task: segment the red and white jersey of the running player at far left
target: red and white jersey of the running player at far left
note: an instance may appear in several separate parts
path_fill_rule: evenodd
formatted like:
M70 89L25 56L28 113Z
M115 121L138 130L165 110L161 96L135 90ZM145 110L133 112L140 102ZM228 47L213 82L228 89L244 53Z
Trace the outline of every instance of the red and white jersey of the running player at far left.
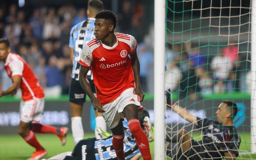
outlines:
M32 69L18 54L10 52L4 63L5 71L10 78L21 77L20 89L22 100L28 101L34 98L44 98L44 91Z

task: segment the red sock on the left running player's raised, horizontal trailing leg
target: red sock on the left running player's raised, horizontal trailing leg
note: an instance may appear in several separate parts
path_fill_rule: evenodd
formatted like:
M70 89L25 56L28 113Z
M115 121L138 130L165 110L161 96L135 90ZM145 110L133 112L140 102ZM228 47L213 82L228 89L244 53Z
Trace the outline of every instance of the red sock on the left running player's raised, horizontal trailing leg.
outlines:
M32 131L35 133L53 133L56 135L60 134L60 129L40 123L32 123Z

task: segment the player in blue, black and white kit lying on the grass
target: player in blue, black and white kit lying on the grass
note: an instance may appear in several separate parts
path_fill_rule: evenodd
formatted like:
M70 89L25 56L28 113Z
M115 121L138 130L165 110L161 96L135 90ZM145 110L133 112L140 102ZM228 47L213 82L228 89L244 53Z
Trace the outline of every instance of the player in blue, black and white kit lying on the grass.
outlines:
M148 136L148 140L152 141L154 138L154 128L149 121L149 114L146 109L139 111L138 118L140 121L140 126ZM141 157L139 148L136 145L135 139L129 130L127 120L123 121L124 124L124 156L125 159L137 160ZM112 145L113 136L107 132L99 132L103 138L102 140L97 140L96 138L88 138L86 140L81 140L75 146L72 156L66 156L70 153L61 153L60 155L54 156L50 159L89 159L89 160L102 160L102 159L116 159L116 153ZM66 156L66 157L65 157Z

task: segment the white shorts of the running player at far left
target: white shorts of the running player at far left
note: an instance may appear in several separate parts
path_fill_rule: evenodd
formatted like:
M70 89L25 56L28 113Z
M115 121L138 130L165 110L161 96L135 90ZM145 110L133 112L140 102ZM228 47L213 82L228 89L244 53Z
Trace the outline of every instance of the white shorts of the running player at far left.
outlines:
M20 102L20 120L25 123L39 122L44 111L44 98Z

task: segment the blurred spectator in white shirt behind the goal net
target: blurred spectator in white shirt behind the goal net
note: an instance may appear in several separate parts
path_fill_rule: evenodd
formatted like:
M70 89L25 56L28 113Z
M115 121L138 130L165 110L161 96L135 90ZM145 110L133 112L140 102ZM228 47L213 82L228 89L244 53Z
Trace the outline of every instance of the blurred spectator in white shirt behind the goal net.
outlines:
M224 92L227 88L226 82L229 78L230 71L232 70L232 62L222 53L212 58L211 69L214 77L214 92Z

